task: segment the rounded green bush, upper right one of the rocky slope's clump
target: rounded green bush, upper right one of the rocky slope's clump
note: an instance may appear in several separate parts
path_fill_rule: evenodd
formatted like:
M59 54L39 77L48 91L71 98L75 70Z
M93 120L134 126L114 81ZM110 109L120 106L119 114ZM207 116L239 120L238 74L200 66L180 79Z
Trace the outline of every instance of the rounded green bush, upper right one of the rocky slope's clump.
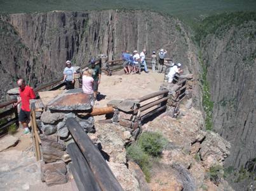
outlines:
M138 145L149 155L161 156L163 148L168 141L160 133L145 132L138 138Z

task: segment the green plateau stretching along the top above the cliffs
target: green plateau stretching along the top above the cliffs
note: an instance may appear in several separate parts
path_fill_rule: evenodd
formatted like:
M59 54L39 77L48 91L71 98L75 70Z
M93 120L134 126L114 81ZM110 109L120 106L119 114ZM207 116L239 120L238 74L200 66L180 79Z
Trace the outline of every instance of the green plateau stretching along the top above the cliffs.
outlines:
M254 0L0 0L0 13L32 13L53 10L84 11L100 9L144 9L178 16L190 25L201 18L232 11L255 11Z

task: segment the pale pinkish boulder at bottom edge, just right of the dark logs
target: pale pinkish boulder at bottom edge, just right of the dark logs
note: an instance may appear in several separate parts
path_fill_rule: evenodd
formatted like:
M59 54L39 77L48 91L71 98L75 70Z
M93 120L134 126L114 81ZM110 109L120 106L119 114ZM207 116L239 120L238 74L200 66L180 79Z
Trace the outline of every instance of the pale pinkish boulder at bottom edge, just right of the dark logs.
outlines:
M111 162L107 162L107 164L109 164L111 171L114 173L114 176L116 176L116 179L125 191L140 190L140 185L138 184L137 179L135 178L135 176L133 176L133 174L131 173L131 171L129 171L125 164Z

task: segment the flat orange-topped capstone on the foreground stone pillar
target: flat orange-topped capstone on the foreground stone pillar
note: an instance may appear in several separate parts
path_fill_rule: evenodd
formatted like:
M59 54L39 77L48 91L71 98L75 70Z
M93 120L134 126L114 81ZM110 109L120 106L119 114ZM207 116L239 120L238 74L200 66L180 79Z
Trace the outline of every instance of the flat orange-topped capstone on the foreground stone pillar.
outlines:
M90 97L82 92L60 94L48 103L53 111L88 111L91 109Z

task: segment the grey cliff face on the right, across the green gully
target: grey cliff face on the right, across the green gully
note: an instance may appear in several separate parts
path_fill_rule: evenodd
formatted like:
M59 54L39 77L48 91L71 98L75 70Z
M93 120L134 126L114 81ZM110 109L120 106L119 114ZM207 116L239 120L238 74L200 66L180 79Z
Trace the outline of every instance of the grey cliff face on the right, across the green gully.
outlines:
M214 102L213 128L231 142L225 163L234 168L256 156L256 22L246 19L250 16L231 15L201 40Z

